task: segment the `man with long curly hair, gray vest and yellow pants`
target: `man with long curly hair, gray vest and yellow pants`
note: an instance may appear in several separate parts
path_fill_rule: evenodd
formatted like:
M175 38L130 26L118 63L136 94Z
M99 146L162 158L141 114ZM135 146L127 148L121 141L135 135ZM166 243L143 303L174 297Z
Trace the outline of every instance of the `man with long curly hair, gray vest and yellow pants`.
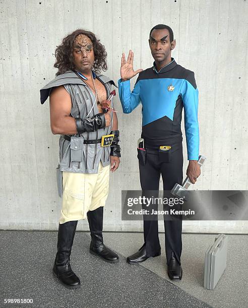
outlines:
M70 266L78 220L88 218L90 253L110 263L118 262L102 238L109 169L114 172L120 162L117 117L112 100L107 100L115 84L100 74L107 69L106 56L92 32L74 31L55 50L56 78L40 90L41 104L50 98L51 131L60 134L63 202L53 275L68 288L80 286Z

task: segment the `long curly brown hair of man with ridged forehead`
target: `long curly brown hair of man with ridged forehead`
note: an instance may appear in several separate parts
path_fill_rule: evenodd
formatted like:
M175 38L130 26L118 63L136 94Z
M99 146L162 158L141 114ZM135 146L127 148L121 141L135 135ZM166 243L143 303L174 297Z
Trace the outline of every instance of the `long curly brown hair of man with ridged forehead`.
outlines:
M75 65L73 63L73 42L79 34L88 36L93 43L95 56L93 68L95 72L99 73L101 70L107 70L107 53L105 47L100 43L100 40L96 38L94 33L83 29L78 29L66 36L62 43L55 49L56 62L53 66L58 68L58 71L55 74L56 76L65 73L67 70L75 69Z

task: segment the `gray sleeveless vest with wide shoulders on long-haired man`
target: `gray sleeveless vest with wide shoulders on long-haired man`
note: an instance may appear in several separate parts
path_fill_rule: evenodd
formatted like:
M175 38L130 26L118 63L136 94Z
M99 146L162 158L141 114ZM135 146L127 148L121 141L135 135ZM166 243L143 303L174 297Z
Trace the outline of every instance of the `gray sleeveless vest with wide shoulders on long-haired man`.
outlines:
M105 86L107 98L112 91L114 82L107 76L96 74L96 78ZM85 118L95 101L95 96L91 89L73 71L67 71L58 75L40 90L40 101L43 104L48 98L53 87L64 86L72 98L71 116L74 118ZM111 102L113 108L113 100ZM89 116L99 113L97 104L90 112ZM111 125L95 132L84 132L81 135L71 137L71 142L63 136L59 138L59 160L60 170L74 173L97 173L100 161L103 167L110 164L110 146L101 147L100 143L85 144L84 139L100 139L103 135L108 135L112 129Z

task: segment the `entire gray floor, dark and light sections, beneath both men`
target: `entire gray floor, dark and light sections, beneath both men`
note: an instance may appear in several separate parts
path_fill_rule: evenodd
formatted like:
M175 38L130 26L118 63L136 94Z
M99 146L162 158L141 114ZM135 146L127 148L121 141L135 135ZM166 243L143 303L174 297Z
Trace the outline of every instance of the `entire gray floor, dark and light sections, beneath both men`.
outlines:
M183 235L183 279L171 283L163 252L142 266L126 263L143 244L142 234L104 233L105 244L120 255L118 264L109 264L89 254L89 234L77 232L71 256L82 283L77 290L61 286L51 274L56 237L56 232L0 231L0 307L247 306L246 236L229 236L228 267L214 291L202 286L204 251L214 235ZM32 298L33 304L4 304L4 298Z

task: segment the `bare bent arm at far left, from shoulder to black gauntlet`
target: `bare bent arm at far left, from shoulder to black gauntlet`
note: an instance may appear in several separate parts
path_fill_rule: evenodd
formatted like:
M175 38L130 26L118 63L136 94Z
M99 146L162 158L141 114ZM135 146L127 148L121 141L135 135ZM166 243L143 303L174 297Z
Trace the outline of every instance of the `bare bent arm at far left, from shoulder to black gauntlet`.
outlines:
M74 135L77 133L75 118L70 116L72 99L63 86L50 93L50 126L52 133Z

